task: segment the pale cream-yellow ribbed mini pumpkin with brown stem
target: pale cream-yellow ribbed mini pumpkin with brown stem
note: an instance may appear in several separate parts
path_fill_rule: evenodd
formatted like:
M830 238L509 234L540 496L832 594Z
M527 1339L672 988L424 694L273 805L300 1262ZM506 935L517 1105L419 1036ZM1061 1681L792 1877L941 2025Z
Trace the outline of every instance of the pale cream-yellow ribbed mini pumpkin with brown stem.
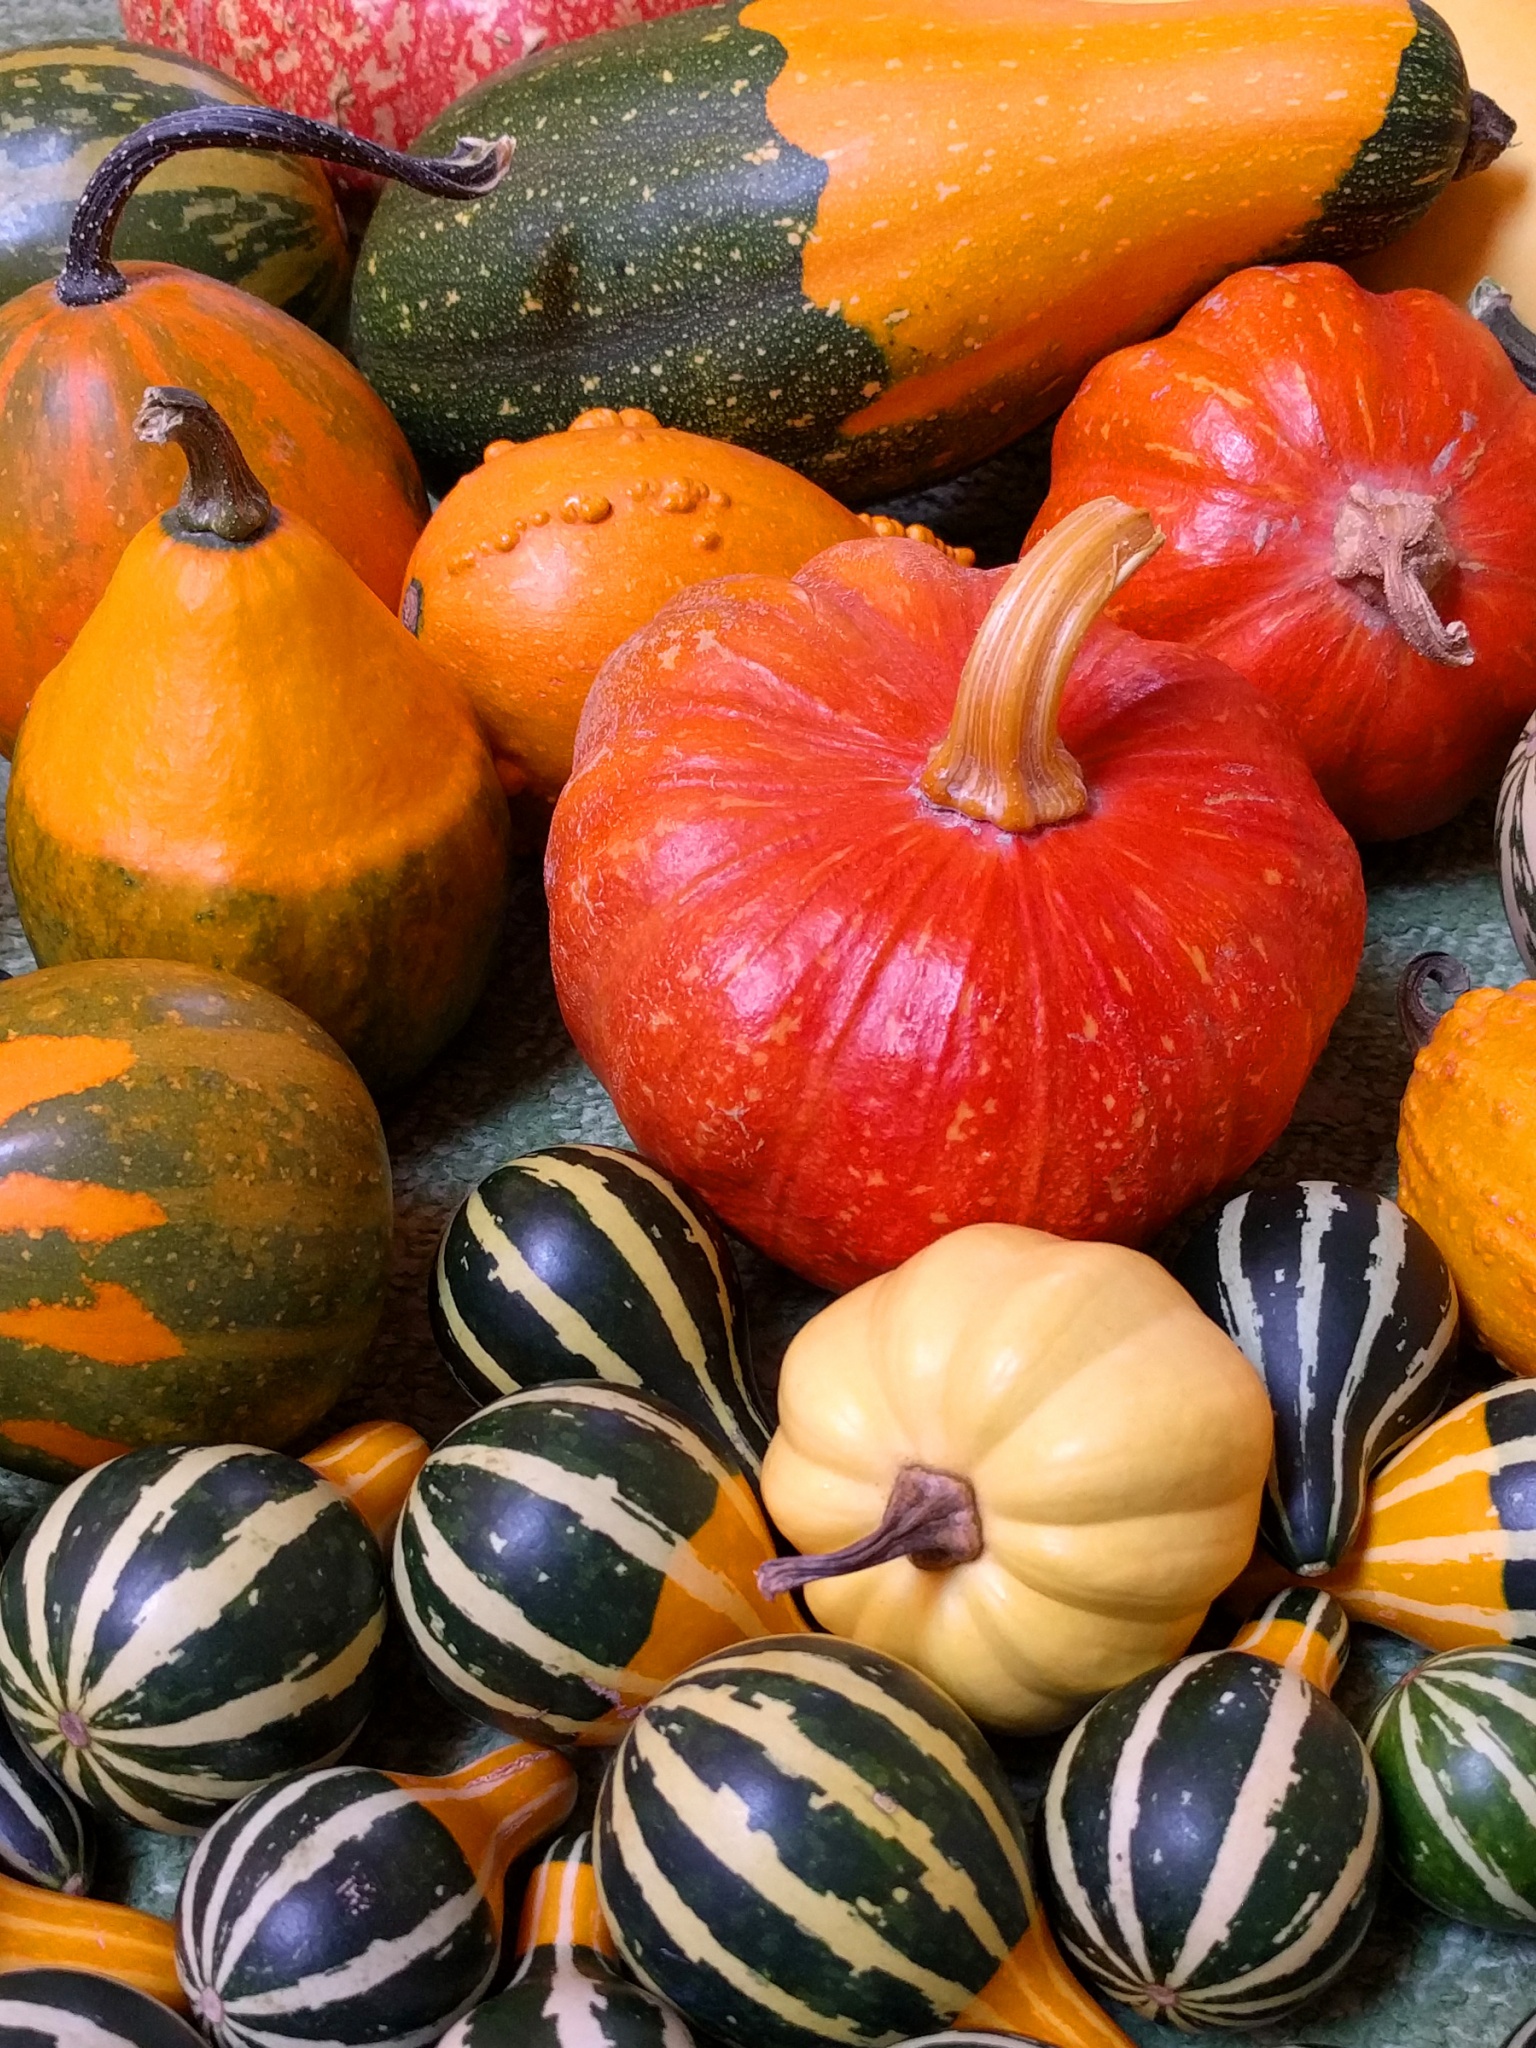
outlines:
M979 1223L795 1337L762 1468L834 1634L991 1729L1059 1729L1180 1657L1257 1532L1260 1376L1153 1260Z

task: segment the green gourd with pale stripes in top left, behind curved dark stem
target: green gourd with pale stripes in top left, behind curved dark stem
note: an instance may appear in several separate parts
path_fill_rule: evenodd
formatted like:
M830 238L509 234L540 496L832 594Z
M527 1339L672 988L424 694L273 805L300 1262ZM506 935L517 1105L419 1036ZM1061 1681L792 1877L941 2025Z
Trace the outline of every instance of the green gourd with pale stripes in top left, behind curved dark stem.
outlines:
M57 276L76 201L113 143L158 115L254 104L211 66L137 43L0 51L0 299ZM311 328L330 328L346 299L346 236L307 158L176 156L129 199L113 248L240 285Z

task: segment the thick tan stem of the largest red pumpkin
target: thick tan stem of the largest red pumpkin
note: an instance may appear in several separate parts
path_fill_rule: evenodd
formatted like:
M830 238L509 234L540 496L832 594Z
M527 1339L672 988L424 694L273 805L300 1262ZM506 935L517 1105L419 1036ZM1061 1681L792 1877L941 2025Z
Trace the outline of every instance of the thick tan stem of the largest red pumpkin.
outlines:
M1057 733L1061 692L1087 629L1161 545L1149 514L1118 498L1094 498L1036 541L971 645L950 729L922 772L930 803L1001 831L1061 825L1087 809Z

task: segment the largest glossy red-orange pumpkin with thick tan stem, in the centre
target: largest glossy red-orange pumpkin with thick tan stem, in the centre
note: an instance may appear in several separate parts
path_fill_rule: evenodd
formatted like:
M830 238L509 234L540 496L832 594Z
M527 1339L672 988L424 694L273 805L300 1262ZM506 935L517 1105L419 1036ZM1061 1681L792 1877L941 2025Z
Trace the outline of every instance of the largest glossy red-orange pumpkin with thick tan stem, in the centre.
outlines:
M987 1219L1135 1241L1290 1116L1360 862L1221 664L1100 627L1073 666L1155 545L1114 502L1014 571L850 541L674 598L598 676L561 1008L639 1149L786 1266L850 1286Z

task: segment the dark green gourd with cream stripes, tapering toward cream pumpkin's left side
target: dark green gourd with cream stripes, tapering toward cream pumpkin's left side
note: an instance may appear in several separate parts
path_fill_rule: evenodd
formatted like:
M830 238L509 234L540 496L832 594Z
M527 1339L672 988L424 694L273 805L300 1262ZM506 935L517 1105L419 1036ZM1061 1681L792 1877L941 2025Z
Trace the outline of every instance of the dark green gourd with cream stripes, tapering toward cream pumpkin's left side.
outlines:
M672 1401L750 1473L762 1464L731 1247L635 1153L557 1145L498 1165L449 1219L428 1307L473 1401L608 1380Z

